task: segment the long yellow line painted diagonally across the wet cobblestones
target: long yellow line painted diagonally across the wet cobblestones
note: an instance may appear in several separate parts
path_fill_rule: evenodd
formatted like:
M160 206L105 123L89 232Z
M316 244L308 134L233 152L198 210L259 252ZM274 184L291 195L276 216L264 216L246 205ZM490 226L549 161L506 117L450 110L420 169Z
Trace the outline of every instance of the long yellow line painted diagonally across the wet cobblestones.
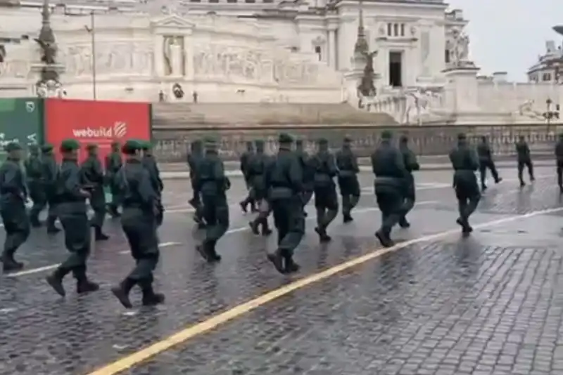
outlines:
M533 216L544 215L546 213L553 213L563 211L563 207L557 209L546 209L541 211L533 211L531 213L526 213L524 215L517 215L517 216L510 216L509 218L501 218L494 221L488 221L486 223L481 223L478 225L474 225L473 227L478 228L486 228L493 225L499 225L504 223L510 223L512 221L517 221L524 218L531 218ZM141 362L148 360L149 358L163 353L165 350L168 350L174 346L177 346L180 343L184 343L191 338L196 336L200 336L207 331L215 329L216 327L220 326L221 324L225 324L230 320L234 320L236 317L240 317L243 314L246 314L255 308L258 308L270 301L274 301L281 296L291 293L292 291L296 291L303 287L307 287L310 284L315 282L320 282L323 279L327 279L333 275L336 275L339 272L344 270L348 270L349 268L353 268L357 265L362 263L366 263L367 261L371 261L372 259L379 258L380 256L390 253L391 251L396 251L398 249L403 249L406 246L410 246L412 244L416 244L418 242L428 242L434 241L436 239L441 239L443 237L447 237L449 235L459 234L460 229L456 228L454 230L446 230L445 232L438 232L434 235L426 235L422 237L418 237L415 239L410 239L405 242L401 242L400 244L396 244L393 247L389 247L387 249L377 249L368 254L359 256L358 258L354 258L350 261L346 261L339 265L335 265L334 267L328 268L322 272L315 273L314 275L310 275L308 277L303 277L302 279L298 279L290 284L286 284L283 287L279 287L278 289L274 289L273 291L267 292L266 294L262 294L262 296L258 296L258 298L254 298L251 301L246 303L242 303L241 305L237 305L234 308L230 308L224 313L220 313L210 319L205 320L201 323L194 324L191 327L186 329L182 329L182 331L178 331L176 334L172 334L167 338L164 338L162 341L158 341L157 343L153 343L151 346L148 346L144 349L137 351L136 353L132 353L125 357L122 357L119 360L116 360L113 363L107 364L100 369L97 369L94 372L91 372L87 375L115 375L119 374L126 369L129 369Z

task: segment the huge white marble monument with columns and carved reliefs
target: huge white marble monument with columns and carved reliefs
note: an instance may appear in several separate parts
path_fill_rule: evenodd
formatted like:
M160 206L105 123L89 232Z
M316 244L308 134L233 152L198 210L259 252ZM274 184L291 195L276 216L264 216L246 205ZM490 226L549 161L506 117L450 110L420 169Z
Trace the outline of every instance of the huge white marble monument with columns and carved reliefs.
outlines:
M41 67L33 39L42 3L9 1L0 8L0 96L30 96ZM361 99L364 110L419 124L542 121L546 98L559 103L560 86L511 84L502 74L477 77L464 33L468 21L443 0L74 0L49 6L61 84L70 98L354 106ZM365 51L355 53L358 45ZM375 88L369 97L358 90L367 53L373 53ZM175 86L182 98L175 97Z

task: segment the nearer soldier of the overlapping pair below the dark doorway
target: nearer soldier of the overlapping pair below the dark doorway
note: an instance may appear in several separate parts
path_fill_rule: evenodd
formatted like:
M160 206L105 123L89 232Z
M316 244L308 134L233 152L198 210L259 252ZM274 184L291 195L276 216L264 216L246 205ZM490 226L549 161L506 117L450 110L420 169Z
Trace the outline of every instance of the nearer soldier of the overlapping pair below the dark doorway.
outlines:
M381 133L381 144L372 154L374 190L381 211L381 228L375 232L375 236L386 247L394 245L391 229L403 217L405 183L408 176L403 155L391 144L391 138L390 131Z

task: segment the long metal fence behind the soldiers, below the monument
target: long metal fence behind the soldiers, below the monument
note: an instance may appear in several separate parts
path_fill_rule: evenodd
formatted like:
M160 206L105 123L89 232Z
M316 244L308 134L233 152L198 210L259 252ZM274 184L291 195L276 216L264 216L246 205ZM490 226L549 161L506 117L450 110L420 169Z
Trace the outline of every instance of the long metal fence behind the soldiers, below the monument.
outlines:
M367 157L379 143L381 132L392 131L396 138L407 135L410 147L418 155L448 154L457 140L457 134L466 133L476 143L487 136L495 154L514 154L514 143L520 136L528 141L532 153L552 154L557 140L556 129L544 124L528 125L433 125L433 126L248 126L248 127L157 127L153 129L156 142L154 152L160 162L185 162L191 141L211 136L217 140L224 160L238 160L246 150L246 142L264 140L267 152L276 152L277 136L290 133L303 140L305 149L315 150L318 138L327 138L331 148L341 146L344 136L353 138L354 150L359 157Z

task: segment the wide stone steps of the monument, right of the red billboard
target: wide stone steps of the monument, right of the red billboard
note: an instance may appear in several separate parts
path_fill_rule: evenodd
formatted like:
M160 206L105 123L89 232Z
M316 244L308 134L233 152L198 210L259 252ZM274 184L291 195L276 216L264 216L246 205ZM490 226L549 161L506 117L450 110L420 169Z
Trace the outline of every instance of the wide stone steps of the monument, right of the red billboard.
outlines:
M293 126L293 125L393 126L388 114L357 110L348 103L155 103L153 126Z

